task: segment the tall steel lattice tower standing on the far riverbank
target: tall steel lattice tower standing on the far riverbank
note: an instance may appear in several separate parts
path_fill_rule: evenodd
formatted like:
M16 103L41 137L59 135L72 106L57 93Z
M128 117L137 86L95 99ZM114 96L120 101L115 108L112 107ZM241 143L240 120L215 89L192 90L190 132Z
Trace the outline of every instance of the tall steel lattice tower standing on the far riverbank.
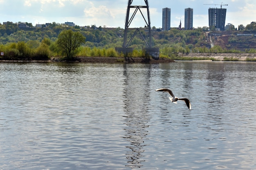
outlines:
M130 42L133 40L135 35L139 33L141 37L143 38L144 42L146 43L146 46L148 48L151 48L152 46L152 41L151 41L151 27L150 27L150 16L149 16L149 7L148 7L148 0L144 0L145 5L132 5L132 2L134 0L128 0L128 7L127 7L127 13L126 13L126 22L125 22L125 29L124 29L124 43L123 43L123 48L127 48L130 45ZM132 15L130 16L130 9L135 9ZM145 18L143 15L143 12L141 9L147 9L147 17ZM132 23L132 20L134 19L135 15L138 13L142 15L146 25L144 28L130 28L130 24ZM127 33L129 30L135 30L133 33L132 37L130 40L127 40ZM149 42L146 42L145 38L143 37L141 30L148 31L148 37L149 37ZM127 42L128 41L128 42Z

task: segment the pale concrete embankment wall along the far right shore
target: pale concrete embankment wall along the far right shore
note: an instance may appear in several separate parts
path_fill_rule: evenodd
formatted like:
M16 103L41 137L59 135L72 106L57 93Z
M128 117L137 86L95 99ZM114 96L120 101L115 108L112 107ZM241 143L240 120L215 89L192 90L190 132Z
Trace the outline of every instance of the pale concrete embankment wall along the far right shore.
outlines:
M256 59L255 53L179 53L180 57L209 57L222 61L224 58L234 58L239 61L246 61L249 59Z

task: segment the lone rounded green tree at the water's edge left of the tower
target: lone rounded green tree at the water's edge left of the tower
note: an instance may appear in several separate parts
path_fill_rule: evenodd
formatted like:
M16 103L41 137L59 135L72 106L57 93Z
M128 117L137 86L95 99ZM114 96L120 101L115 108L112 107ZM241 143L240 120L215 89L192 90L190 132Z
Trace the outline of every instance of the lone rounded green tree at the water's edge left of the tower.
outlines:
M57 45L67 55L68 59L72 59L76 49L84 42L85 37L80 32L68 29L61 31L58 35Z

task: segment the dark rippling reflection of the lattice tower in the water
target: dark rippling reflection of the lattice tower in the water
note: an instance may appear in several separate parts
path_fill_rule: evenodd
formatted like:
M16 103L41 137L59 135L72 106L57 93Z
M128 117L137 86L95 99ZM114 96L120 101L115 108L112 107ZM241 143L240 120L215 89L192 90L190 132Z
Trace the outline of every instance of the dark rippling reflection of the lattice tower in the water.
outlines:
M130 151L126 153L128 159L128 165L126 166L139 168L142 166L141 162L144 161L141 158L143 157L144 142L148 134L147 123L150 119L147 108L149 91L145 90L149 89L150 69L145 77L145 72L129 71L130 66L136 66L136 64L124 64L124 112L126 113L125 124L127 125L124 139L130 142L130 145L126 146L130 148ZM141 82L146 82L146 84L141 84L141 79L143 79Z

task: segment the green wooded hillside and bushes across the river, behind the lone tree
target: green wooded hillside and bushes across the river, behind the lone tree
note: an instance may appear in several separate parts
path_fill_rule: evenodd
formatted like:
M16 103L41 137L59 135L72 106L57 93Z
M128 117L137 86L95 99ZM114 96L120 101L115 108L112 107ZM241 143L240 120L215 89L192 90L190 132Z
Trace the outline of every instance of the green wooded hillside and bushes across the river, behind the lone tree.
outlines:
M92 26L67 26L49 23L42 28L33 28L31 23L27 28L19 28L18 24L6 22L0 24L0 51L4 52L2 59L14 60L24 58L35 60L62 56L57 45L58 36L64 30L79 32L85 37L85 42L77 49L76 56L108 56L117 57L115 47L123 44L124 29ZM160 57L171 57L175 53L256 53L256 23L247 26L240 25L238 30L231 27L228 31L209 31L208 27L194 30L172 28L170 31L159 31L153 27L153 45L159 47ZM129 36L132 32L129 32ZM147 40L148 33L142 31ZM141 49L145 42L140 35L130 43L134 48L134 57L143 55Z

